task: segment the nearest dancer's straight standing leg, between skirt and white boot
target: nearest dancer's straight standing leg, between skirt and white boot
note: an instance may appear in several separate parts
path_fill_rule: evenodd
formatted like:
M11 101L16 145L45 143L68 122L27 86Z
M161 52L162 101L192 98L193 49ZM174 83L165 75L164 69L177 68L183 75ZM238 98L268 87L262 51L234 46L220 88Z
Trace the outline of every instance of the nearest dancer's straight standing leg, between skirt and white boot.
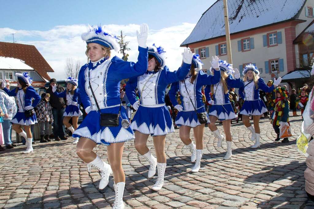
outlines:
M122 169L122 153L124 142L111 143L107 147L108 160L113 173L115 184L125 182L125 175Z

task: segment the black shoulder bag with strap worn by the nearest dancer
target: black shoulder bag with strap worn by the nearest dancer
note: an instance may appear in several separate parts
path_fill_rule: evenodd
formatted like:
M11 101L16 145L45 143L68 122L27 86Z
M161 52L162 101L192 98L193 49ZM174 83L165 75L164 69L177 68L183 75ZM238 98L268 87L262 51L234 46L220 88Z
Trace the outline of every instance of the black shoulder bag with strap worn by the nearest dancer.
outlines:
M96 106L100 112L100 108L98 105L98 102L96 100L94 91L92 89L92 86L90 85L90 80L89 80L89 71L88 71L88 82L89 82L89 88L92 91ZM120 103L120 109L119 109L119 113L118 114L114 114L114 113L101 113L100 112L100 126L107 126L107 127L117 127L119 125L119 117L121 116L121 103ZM121 117L122 118L122 117Z

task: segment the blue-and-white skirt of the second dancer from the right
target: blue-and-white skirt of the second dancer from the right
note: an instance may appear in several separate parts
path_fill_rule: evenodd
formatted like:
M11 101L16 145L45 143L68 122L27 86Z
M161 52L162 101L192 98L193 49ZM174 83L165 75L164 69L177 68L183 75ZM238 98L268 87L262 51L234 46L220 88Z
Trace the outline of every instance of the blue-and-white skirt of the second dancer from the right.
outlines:
M212 105L209 109L208 115L213 115L220 121L231 120L236 118L236 114L233 111L231 103L226 103L223 105Z

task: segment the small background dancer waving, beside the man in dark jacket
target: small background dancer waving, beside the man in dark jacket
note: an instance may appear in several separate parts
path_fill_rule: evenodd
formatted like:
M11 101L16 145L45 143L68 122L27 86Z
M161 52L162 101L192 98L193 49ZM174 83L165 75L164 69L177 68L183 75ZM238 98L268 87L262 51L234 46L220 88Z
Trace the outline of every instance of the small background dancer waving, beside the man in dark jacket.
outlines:
M72 77L68 77L65 80L67 83L67 89L63 92L57 92L56 84L52 86L52 92L57 97L66 97L67 98L67 107L63 113L63 124L73 133L74 130L78 128L78 117L83 115L81 110L79 109L78 105L78 97L80 94L78 87L78 80ZM72 118L73 126L69 123L70 119ZM78 143L78 137L74 138L73 144Z

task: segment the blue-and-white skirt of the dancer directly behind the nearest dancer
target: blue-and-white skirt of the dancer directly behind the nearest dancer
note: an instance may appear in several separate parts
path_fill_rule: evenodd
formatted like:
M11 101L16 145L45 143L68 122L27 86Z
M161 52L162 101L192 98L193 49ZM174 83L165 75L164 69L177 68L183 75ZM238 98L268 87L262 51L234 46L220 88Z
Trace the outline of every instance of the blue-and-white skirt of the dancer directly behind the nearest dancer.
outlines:
M131 123L133 131L151 136L163 136L175 131L166 106L144 107L139 106Z

